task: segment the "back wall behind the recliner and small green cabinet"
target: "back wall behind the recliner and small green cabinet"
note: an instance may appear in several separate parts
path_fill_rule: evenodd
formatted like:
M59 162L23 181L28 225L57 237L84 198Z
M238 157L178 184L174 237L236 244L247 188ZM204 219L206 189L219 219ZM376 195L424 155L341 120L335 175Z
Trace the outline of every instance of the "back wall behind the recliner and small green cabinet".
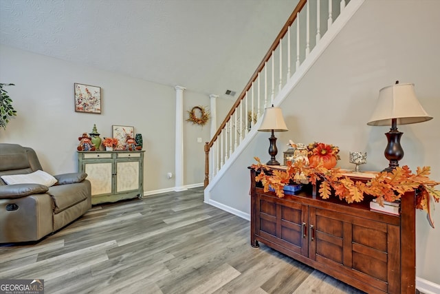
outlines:
M111 136L112 125L135 127L144 140L144 191L175 186L168 171L175 171L175 89L79 66L67 61L0 45L0 83L7 87L17 118L0 129L0 143L18 143L36 150L43 169L51 174L78 170L76 146L83 132L94 124L100 137ZM74 111L74 83L96 85L102 90L102 114ZM184 85L182 85L184 86ZM209 105L209 97L186 90L186 109ZM209 127L184 123L186 175L184 185L199 185L204 178L203 142ZM201 150L201 153L195 152Z

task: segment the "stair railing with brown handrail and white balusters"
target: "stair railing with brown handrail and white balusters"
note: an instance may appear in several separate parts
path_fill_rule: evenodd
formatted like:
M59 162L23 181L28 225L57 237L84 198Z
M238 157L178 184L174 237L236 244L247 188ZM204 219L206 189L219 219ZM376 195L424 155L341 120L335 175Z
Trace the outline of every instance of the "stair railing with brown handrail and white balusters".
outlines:
M298 2L223 123L210 142L205 143L205 187L256 125L264 108L272 105L276 94L281 92L348 2ZM311 38L311 30L314 38Z

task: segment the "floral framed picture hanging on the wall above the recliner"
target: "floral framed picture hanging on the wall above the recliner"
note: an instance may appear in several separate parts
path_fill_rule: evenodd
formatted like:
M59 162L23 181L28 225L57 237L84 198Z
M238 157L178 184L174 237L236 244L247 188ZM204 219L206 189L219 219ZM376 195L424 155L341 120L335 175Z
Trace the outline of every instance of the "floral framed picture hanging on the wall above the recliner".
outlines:
M101 114L101 87L75 83L75 112Z

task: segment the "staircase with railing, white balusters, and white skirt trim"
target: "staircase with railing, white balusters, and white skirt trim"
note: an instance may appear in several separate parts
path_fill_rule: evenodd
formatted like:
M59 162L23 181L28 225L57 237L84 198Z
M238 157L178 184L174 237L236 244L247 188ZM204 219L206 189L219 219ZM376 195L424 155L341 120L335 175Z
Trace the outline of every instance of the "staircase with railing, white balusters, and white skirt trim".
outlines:
M265 107L278 106L364 0L300 0L259 67L205 145L205 202L245 219L243 209L212 200L210 191L256 136ZM243 180L248 179L247 173ZM246 187L248 189L249 187Z

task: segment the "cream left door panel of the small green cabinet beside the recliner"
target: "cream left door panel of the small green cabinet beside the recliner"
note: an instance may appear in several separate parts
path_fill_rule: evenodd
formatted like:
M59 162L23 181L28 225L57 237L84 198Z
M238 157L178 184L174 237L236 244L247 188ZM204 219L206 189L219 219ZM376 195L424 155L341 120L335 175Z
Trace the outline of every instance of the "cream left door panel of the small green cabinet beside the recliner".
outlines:
M112 163L99 162L85 164L87 180L91 183L91 195L111 194Z

